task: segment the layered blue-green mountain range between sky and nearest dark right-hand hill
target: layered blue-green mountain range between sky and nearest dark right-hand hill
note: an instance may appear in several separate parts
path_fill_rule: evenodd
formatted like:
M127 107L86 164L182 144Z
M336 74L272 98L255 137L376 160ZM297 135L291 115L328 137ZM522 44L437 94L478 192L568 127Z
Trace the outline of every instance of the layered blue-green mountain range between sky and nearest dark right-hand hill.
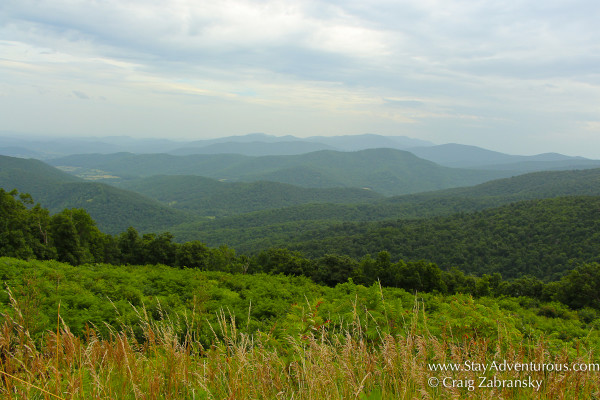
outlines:
M181 240L201 234L211 244L227 235L231 243L239 243L235 238L240 234L260 240L267 230L298 230L294 224L299 222L315 227L332 221L422 218L528 199L600 195L600 169L590 169L600 166L597 160L560 154L514 156L405 137L308 140L252 134L184 147L171 140L126 137L70 143L5 139L0 140L0 150L29 159L1 156L0 187L31 193L52 212L85 208L107 233L129 226L142 232L172 230ZM37 147L22 146L27 143ZM294 146L304 151L318 148L315 144L327 149L258 155L265 145L277 151ZM383 147L362 148L369 144ZM56 157L58 150L82 151L84 145L89 153ZM149 152L112 152L131 146ZM256 155L221 153L236 146ZM159 148L164 151L150 151ZM196 148L215 154L165 152ZM39 160L50 154L54 158ZM537 169L555 172L523 175ZM239 246L244 249L244 244Z

